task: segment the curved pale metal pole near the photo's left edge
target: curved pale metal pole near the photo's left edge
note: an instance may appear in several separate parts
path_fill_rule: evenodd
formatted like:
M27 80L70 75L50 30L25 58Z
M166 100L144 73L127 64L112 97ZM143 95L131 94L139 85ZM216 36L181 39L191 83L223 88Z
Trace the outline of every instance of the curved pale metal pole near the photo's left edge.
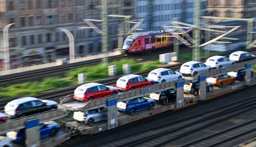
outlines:
M15 23L13 23L15 24ZM9 35L8 35L8 29L11 25L13 24L8 24L4 27L3 29L3 37L4 37L4 69L7 70L10 69L10 51L9 51Z

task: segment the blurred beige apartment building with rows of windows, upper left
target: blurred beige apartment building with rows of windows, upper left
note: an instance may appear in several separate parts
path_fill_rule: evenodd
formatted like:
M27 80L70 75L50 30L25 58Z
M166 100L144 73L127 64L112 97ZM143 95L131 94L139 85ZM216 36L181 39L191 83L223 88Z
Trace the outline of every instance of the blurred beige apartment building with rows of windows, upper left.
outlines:
M76 57L100 52L101 34L94 29L79 27L89 26L83 19L101 20L101 2L102 0L0 0L0 60L3 59L3 29L12 23L15 24L8 29L10 58L20 58L23 65L30 61L54 61L69 55L68 36L58 28L65 28L72 33ZM132 0L108 0L108 14L130 15L131 6ZM116 30L123 27L122 21L121 18L108 18L109 50L118 47ZM101 29L101 22L92 23Z

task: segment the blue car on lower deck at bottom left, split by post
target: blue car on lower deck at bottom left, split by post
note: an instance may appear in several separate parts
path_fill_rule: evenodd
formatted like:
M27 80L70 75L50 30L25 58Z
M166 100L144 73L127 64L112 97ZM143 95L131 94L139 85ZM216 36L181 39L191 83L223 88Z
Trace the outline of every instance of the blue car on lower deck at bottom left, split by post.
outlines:
M54 121L41 123L39 125L39 129L40 129L40 138L46 137L46 136L54 137L57 135L58 131L60 130L60 128L58 127L58 123ZM20 129L17 135L15 134L16 134L15 131L6 133L7 137L11 138L14 143L24 145L25 139L26 139L25 129Z

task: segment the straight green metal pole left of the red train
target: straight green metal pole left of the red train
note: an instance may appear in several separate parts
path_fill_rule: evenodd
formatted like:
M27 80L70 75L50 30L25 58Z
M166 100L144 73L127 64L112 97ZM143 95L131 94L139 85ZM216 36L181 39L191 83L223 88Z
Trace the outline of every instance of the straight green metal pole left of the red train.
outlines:
M108 7L107 0L102 0L102 52L103 52L103 65L108 65Z

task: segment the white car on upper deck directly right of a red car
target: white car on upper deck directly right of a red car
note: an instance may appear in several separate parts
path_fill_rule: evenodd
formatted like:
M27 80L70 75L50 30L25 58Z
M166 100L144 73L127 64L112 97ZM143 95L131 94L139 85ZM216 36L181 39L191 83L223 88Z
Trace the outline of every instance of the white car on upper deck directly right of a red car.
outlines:
M182 78L182 73L170 69L159 68L150 71L148 78L152 78L156 83L165 83Z

